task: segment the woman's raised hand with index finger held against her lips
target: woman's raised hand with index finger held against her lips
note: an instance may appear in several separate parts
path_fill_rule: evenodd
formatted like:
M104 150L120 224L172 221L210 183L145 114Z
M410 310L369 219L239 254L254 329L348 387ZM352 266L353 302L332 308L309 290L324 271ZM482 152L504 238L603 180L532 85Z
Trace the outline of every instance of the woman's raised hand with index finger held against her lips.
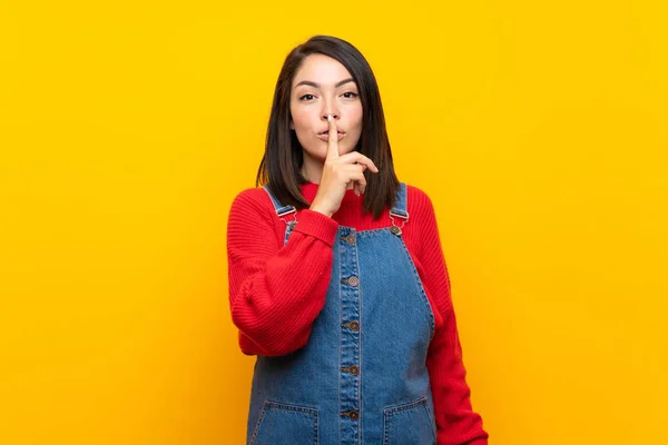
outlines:
M358 151L351 151L338 156L338 134L336 120L330 115L330 138L327 139L327 156L323 166L323 175L311 210L331 217L341 207L341 201L352 184L355 194L364 192L366 188L366 178L364 170L369 168L373 172L379 172L379 168L371 159Z

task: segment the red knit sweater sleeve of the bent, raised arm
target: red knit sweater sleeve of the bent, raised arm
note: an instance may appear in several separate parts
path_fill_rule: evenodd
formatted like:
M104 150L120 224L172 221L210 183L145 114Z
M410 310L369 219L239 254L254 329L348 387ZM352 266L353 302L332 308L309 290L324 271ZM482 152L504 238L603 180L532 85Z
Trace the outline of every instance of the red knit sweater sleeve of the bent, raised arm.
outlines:
M257 191L242 191L229 210L229 305L242 352L279 356L306 345L325 304L338 224L303 209L283 246L269 198Z

